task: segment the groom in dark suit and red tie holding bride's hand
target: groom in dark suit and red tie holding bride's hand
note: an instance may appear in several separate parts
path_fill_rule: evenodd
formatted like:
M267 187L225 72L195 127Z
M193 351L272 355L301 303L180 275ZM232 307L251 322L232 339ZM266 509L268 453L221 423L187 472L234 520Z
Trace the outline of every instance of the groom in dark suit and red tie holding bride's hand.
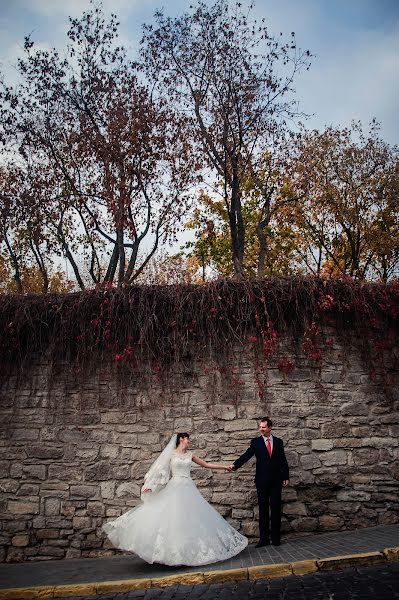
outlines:
M258 493L260 533L257 548L269 545L269 536L273 546L280 545L281 490L282 486L289 483L284 444L280 438L271 434L272 425L269 417L262 418L259 423L261 435L253 438L248 450L229 467L230 471L235 471L252 456L256 456L255 484Z

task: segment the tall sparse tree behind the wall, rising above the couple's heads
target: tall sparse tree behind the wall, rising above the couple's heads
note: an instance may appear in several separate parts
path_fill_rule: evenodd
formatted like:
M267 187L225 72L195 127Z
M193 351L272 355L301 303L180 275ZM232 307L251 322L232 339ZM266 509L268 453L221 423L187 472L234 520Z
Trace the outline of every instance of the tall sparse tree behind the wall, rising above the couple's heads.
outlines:
M175 19L157 12L156 27L145 27L142 49L146 73L161 96L189 115L204 162L222 181L236 276L244 274L243 183L258 179L264 205L258 235L266 251L274 188L259 174L264 153L284 138L286 119L297 114L292 85L310 59L294 34L288 43L274 38L264 19L250 20L251 10L244 14L239 2L231 8L218 0L211 7L199 2ZM260 271L263 264L261 257Z

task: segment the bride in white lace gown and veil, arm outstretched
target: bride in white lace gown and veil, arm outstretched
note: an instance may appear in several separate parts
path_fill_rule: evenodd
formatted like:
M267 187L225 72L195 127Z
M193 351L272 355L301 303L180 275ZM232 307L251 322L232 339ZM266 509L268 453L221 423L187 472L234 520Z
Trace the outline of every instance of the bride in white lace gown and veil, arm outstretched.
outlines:
M120 550L135 552L148 563L206 565L235 556L248 545L203 498L191 479L191 463L207 463L189 452L188 433L173 435L144 477L142 503L103 525Z

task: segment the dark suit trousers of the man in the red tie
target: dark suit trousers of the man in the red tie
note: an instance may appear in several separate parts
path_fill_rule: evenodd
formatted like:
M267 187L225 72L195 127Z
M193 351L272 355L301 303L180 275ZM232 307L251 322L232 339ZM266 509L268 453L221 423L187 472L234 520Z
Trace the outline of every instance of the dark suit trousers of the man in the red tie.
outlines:
M281 481L257 484L256 486L259 504L259 539L261 542L268 541L270 537L272 542L280 541L281 490Z

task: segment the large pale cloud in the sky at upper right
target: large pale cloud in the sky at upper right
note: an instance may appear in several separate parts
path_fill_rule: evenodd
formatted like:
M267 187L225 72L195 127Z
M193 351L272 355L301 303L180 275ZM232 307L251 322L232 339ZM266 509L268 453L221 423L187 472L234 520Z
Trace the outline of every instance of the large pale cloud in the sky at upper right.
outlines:
M352 119L367 124L376 117L383 137L397 143L398 72L399 27L352 33L335 48L320 49L297 86L298 98L305 111L316 113L316 127L349 125Z

